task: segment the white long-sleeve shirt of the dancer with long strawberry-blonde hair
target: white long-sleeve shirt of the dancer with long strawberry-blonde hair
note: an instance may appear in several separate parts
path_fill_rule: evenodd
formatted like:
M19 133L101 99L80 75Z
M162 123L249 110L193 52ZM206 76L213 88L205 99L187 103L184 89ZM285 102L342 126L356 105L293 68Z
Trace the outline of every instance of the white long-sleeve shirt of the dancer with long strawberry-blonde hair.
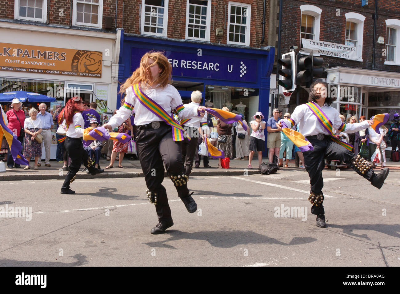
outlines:
M172 111L178 106L182 105L182 98L178 90L174 86L168 84L165 88L157 85L156 87L142 87L142 91L149 98L157 102L168 114L172 114ZM112 128L116 128L122 124L127 118L132 115L132 109L135 108L135 120L136 126L144 124L150 124L151 122L160 122L161 118L156 116L150 110L148 110L142 103L138 101L136 96L133 94L132 87L126 89L125 103L117 113L110 118L108 122ZM197 108L184 108L178 112L180 119L192 118L198 116Z

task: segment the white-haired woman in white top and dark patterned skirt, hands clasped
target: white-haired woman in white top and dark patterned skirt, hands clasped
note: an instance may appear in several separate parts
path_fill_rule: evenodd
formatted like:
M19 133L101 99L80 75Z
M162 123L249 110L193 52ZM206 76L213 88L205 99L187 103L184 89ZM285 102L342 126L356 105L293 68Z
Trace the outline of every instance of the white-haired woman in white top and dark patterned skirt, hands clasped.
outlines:
M31 157L35 158L35 163L33 169L38 169L38 159L42 156L42 143L36 140L38 134L42 132L42 122L37 118L38 111L35 108L29 110L28 118L25 118L24 131L25 131L25 141L24 141L24 157L26 160L30 160ZM29 170L30 166L25 166L24 170Z

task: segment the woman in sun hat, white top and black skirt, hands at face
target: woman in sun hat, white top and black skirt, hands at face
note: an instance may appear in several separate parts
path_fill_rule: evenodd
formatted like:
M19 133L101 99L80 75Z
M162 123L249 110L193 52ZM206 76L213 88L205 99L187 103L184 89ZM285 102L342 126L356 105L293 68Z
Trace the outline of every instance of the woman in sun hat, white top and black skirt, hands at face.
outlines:
M264 129L266 126L266 122L263 121L264 115L261 112L256 112L253 116L254 120L250 122L250 126L253 129L253 132L250 135L250 154L249 154L249 165L247 168L253 168L251 166L251 161L253 159L254 152L258 152L258 165L261 164L262 160L262 152L264 151L264 142L265 135Z

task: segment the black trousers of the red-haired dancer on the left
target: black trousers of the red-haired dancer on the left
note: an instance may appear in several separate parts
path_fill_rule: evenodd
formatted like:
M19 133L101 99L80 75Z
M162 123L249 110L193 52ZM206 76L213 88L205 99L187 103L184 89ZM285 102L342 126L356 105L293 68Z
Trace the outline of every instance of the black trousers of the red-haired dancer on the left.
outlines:
M62 184L62 189L70 188L70 182L74 180L74 176L80 169L80 164L83 161L83 164L86 168L88 168L89 172L94 168L89 164L89 156L83 148L82 138L65 138L64 147L68 152L69 158L71 158L70 170L68 171L67 176L65 177L64 184Z

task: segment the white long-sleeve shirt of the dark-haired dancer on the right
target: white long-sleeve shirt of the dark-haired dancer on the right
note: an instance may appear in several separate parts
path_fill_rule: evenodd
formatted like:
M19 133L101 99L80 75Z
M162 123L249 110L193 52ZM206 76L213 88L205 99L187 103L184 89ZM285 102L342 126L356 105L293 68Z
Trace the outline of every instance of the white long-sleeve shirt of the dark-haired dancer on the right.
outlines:
M343 124L343 132L346 132L346 134L355 133L369 127L367 120L354 124L344 124L339 117L339 112L333 107L324 105L321 107L321 110L330 119L335 130L340 129ZM318 134L330 135L306 104L297 106L290 118L294 120L294 124L298 124L299 132L305 137ZM284 119L283 121L289 128L293 126L290 120Z

